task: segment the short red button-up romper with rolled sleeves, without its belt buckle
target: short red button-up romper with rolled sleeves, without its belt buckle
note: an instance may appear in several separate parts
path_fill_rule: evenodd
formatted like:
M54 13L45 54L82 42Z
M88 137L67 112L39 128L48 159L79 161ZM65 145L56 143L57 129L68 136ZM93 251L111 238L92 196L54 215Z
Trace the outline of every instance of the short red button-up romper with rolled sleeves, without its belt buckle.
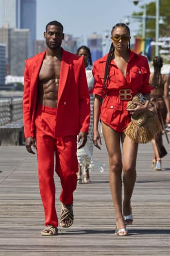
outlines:
M107 56L93 63L94 87L93 94L108 95L104 98L101 109L101 120L118 132L123 132L131 118L126 110L129 100L119 98L119 90L130 89L132 96L137 93L149 94L153 89L149 85L150 69L146 57L137 55L129 50L130 57L127 64L126 78L113 60L110 63L109 82L106 91L102 93L104 71Z

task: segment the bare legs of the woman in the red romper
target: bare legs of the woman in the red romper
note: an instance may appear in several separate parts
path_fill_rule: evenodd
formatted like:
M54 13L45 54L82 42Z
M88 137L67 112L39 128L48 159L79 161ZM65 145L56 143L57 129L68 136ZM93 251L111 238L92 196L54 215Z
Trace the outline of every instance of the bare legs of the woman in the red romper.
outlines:
M102 122L102 131L106 143L110 165L110 189L116 212L117 228L125 227L124 215L131 214L130 201L136 181L137 144L124 134L120 134ZM123 165L121 160L120 139L123 147ZM124 203L122 214L121 173L124 172ZM130 211L130 212L129 212Z

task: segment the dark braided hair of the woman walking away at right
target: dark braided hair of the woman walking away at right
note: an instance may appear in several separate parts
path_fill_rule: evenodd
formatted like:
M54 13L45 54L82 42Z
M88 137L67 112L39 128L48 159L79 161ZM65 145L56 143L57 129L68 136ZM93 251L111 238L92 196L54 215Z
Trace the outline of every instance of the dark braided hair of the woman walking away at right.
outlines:
M163 59L160 56L156 56L153 59L153 87L159 88L162 83L161 67L163 66Z

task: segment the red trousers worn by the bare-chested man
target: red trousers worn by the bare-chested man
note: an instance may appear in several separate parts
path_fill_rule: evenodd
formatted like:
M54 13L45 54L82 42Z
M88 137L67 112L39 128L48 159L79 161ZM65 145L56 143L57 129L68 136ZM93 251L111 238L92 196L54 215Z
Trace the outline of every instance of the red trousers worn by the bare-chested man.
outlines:
M38 159L39 189L45 211L45 225L58 226L55 209L55 172L60 177L62 191L60 201L73 202L73 192L77 186L77 136L57 137L56 109L38 105L35 116L35 138Z

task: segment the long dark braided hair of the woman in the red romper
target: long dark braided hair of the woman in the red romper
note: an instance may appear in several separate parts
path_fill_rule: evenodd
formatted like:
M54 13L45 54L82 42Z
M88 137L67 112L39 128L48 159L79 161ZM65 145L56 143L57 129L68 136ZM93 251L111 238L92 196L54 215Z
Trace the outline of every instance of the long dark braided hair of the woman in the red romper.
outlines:
M124 28L126 28L128 33L129 33L129 36L130 36L130 29L129 29L129 27L125 23L117 23L112 28L111 35L113 33L113 30L115 28L117 28L117 27L124 27ZM130 41L128 43L127 48L130 49ZM111 46L110 46L109 53L108 53L108 57L107 57L107 60L106 60L106 66L105 66L105 71L104 71L104 81L103 81L103 86L102 86L102 95L103 95L103 92L106 90L106 88L108 86L110 62L111 62L111 59L113 59L113 57L114 57L114 51L115 51L115 47L114 47L113 42L112 42Z

